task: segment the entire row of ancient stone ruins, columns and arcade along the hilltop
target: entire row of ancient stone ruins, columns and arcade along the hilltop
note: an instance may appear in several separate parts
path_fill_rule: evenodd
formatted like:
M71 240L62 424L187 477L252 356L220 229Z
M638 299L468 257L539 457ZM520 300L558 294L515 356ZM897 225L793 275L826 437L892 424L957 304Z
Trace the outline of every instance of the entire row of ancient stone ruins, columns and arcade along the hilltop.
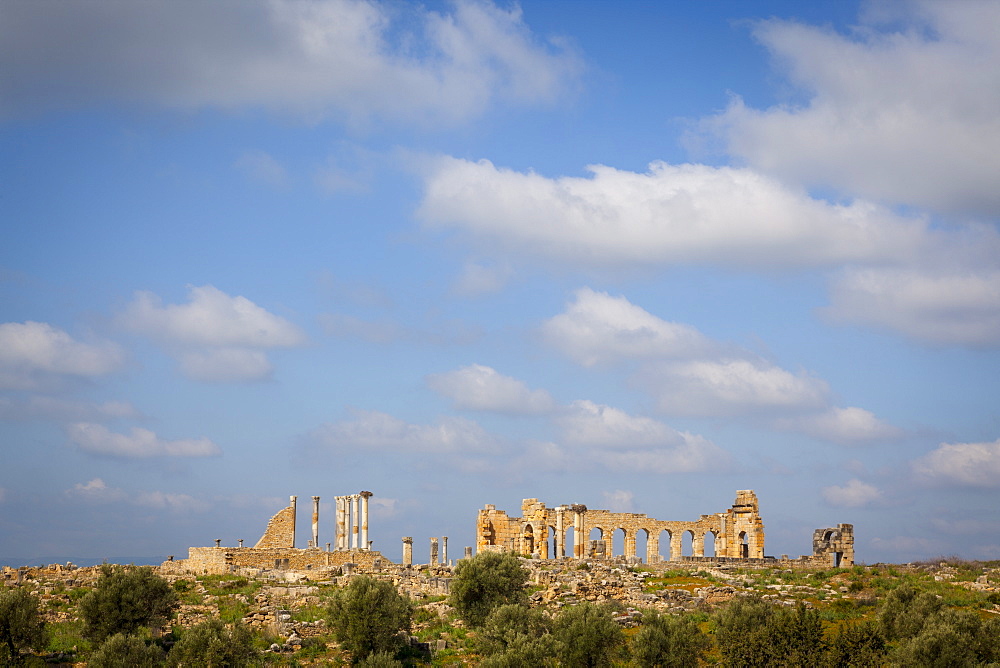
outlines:
M372 493L363 491L334 497L334 540L320 544L320 497L312 497L312 524L305 547L296 547L298 497L268 522L253 547L192 547L188 558L163 566L173 572L227 573L238 569L329 571L381 570L413 566L413 538L402 539L402 563L395 564L372 549L368 538L368 505ZM615 549L614 536L620 540ZM641 539L641 541L640 541ZM645 543L639 554L639 542ZM615 513L582 504L547 507L538 499L524 499L521 516L512 517L495 505L479 511L476 552L509 551L537 560L598 559L657 564L678 561L785 563L801 566L848 566L854 563L854 527L839 524L817 529L813 554L795 560L764 555L764 522L753 490L738 490L733 505L724 512L701 515L696 520L658 520L641 513ZM568 547L570 546L570 547ZM685 554L686 552L686 554ZM706 552L711 554L706 555ZM466 547L466 558L472 548ZM448 537L430 538L428 567L447 567Z

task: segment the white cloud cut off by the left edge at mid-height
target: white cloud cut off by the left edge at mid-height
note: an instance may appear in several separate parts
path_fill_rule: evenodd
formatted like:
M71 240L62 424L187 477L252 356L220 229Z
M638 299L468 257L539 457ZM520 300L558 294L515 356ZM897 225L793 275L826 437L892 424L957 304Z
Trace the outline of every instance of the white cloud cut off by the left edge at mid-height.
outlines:
M38 389L58 377L94 378L124 363L124 351L111 342L82 343L44 322L0 324L0 389Z

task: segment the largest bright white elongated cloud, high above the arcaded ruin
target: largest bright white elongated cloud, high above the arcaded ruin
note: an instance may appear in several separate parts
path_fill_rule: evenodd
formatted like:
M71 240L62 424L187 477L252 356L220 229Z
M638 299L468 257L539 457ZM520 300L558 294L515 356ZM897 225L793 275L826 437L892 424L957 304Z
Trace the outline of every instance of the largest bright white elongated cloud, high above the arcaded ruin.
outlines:
M830 204L750 169L654 162L550 179L486 160L428 162L419 215L484 244L584 266L835 266L909 257L926 224Z

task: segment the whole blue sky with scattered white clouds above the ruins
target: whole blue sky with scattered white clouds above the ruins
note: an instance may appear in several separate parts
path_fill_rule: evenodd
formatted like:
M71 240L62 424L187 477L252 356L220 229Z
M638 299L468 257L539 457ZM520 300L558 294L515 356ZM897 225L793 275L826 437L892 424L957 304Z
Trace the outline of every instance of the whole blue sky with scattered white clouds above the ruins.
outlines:
M740 489L1000 558L1000 3L2 0L0 62L0 563L361 490L393 560Z

